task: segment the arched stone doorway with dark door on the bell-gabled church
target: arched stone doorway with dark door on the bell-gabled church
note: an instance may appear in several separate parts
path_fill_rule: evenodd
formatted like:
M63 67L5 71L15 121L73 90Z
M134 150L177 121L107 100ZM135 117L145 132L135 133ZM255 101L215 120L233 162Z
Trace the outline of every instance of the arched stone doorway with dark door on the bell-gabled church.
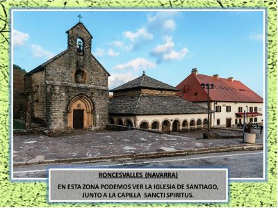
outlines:
M89 129L94 125L94 104L87 95L76 95L67 107L67 126Z

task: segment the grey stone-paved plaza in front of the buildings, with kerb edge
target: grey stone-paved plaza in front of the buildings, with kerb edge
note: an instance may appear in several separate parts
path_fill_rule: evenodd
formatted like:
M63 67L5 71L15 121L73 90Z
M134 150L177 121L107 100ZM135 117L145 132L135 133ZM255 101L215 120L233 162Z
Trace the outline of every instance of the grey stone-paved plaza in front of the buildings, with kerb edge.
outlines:
M221 129L213 129L213 132L241 134L239 131L235 133ZM242 143L241 138L196 139L202 138L202 133L191 131L168 135L140 130L82 130L78 134L60 137L13 136L13 161L14 166L24 166L263 149L263 134L257 134L256 144L247 144Z

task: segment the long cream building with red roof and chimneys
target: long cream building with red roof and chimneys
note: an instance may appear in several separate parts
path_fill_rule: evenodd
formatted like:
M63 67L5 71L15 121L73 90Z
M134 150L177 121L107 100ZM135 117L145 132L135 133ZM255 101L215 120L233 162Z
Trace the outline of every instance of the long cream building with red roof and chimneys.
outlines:
M211 114L212 127L239 126L243 123L244 111L247 112L245 122L256 123L263 119L263 98L233 77L225 79L218 74L198 74L195 68L177 85L178 95L207 108L208 90L202 88L202 83L214 85L209 90L209 106L214 111Z

